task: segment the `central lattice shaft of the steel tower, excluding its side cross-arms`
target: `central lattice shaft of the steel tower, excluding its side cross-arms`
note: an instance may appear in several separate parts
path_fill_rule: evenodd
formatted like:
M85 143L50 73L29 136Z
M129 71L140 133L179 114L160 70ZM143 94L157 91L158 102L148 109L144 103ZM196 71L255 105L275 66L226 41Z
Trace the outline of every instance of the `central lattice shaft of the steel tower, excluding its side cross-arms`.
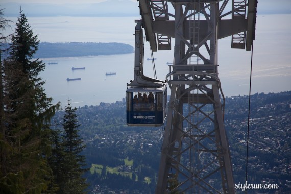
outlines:
M232 165L217 77L218 4L210 4L211 14L207 19L207 25L211 26L208 28L209 59L197 50L206 42L198 39L187 43L189 37L183 37L187 34L184 25L196 22L196 19L186 20L191 7L177 3L174 8L175 56L173 71L167 78L171 96L156 193L232 194L235 193ZM198 38L199 34L193 37ZM192 55L199 55L204 64L187 64Z

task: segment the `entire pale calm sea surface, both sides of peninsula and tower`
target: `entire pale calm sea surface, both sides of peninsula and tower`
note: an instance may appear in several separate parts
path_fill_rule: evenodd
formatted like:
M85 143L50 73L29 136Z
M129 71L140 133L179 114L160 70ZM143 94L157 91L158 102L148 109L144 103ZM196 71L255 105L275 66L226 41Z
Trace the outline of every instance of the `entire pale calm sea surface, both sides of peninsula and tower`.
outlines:
M16 21L17 18L7 18ZM120 42L134 46L135 17L29 17L34 34L42 42ZM258 15L254 42L252 93L291 90L291 14ZM272 23L272 25L270 25ZM15 26L12 25L15 29ZM6 33L9 33L7 31ZM174 44L175 40L172 40ZM219 40L219 72L225 96L245 95L249 91L251 52L232 50L230 38ZM167 62L173 62L171 51L154 53L157 77L165 80ZM145 59L151 58L148 42ZM66 106L71 99L75 107L122 101L126 83L133 79L134 54L44 58L46 69L40 77L46 80L47 96ZM48 65L48 62L58 64ZM145 74L153 77L151 61L144 60ZM74 70L72 67L85 67ZM116 75L106 76L106 72ZM67 78L81 78L69 81ZM169 93L169 92L168 92Z

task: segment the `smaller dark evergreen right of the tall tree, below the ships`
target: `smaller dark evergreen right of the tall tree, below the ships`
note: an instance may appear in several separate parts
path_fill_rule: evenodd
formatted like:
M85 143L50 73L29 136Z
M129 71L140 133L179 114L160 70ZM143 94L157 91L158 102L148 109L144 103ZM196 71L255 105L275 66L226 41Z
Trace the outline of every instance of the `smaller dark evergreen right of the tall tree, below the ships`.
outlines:
M85 178L82 175L88 171L85 167L85 156L81 152L85 149L83 139L79 136L77 108L70 106L70 100L65 107L62 127L64 129L63 145L65 150L65 177L60 184L60 193L83 193L87 188Z

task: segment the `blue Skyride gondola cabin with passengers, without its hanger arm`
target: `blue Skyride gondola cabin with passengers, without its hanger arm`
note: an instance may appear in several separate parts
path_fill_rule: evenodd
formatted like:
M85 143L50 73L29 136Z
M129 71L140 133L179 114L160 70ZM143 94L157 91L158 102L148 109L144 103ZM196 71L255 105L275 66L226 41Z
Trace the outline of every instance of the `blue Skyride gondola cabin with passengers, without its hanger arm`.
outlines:
M130 87L126 90L129 126L161 126L166 117L166 85L159 88Z

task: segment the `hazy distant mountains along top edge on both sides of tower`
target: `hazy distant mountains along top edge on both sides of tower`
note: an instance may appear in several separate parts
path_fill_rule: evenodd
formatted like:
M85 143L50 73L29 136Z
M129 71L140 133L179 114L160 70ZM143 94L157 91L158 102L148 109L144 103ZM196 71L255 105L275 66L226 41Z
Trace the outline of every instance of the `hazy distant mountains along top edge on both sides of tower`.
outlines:
M25 2L23 0L23 2ZM139 2L131 0L107 0L100 3L1 3L4 8L4 17L18 17L20 6L23 13L28 17L50 17L50 16L92 16L92 17L129 17L139 15ZM230 6L230 5L228 5ZM290 14L291 1L264 0L258 2L258 14ZM169 5L169 9L173 10Z

